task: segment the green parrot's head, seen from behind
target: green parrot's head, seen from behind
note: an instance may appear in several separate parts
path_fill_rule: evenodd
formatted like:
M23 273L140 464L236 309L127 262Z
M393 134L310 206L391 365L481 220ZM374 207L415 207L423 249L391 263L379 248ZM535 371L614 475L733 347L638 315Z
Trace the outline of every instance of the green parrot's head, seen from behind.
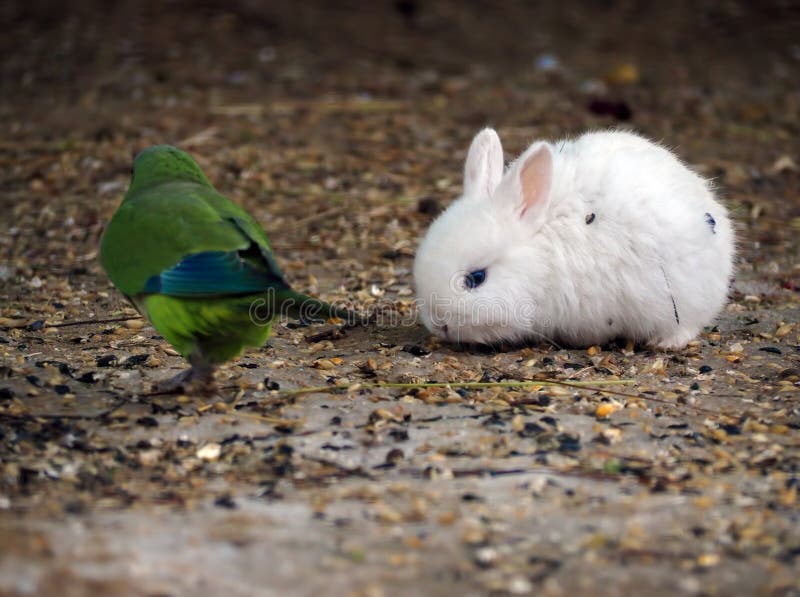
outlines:
M195 182L213 188L188 153L171 145L154 145L139 153L133 161L127 196L165 182Z

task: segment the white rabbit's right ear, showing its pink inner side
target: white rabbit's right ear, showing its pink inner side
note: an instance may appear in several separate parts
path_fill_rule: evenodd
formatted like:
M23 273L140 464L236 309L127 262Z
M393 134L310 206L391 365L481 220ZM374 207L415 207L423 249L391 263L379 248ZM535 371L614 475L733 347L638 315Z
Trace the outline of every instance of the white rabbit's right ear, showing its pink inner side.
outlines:
M547 143L537 143L511 166L498 192L498 201L538 229L544 223L550 203L552 180L553 153Z

